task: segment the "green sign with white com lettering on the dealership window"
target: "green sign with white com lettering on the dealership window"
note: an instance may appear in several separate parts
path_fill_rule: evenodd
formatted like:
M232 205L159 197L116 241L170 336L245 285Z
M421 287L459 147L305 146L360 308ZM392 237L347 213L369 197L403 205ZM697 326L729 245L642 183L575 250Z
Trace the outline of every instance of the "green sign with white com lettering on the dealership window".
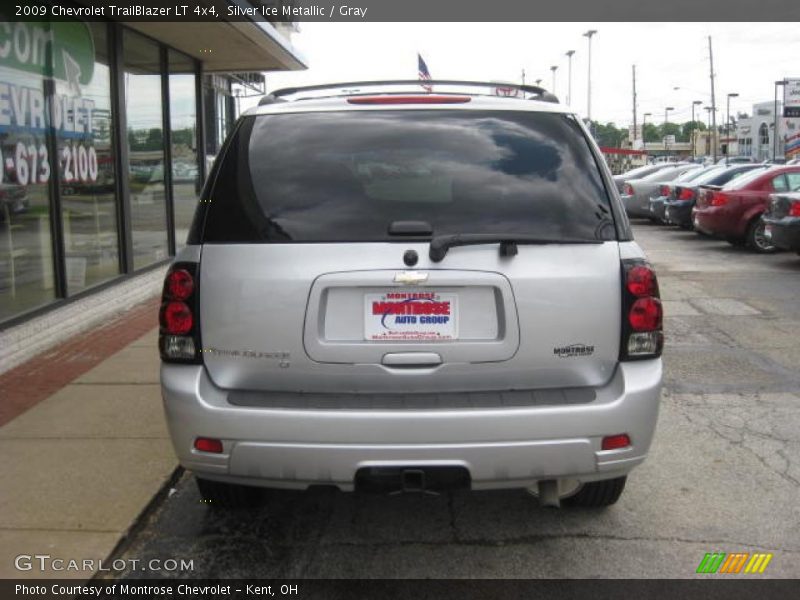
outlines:
M92 33L80 21L9 22L0 15L0 68L61 79L79 90L94 72Z

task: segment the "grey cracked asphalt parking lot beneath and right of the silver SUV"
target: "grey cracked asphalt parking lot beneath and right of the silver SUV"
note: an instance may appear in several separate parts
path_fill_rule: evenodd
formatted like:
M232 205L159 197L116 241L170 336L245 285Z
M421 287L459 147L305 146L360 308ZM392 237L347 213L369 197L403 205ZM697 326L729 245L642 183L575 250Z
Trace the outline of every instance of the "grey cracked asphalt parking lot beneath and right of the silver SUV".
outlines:
M760 551L772 561L748 577L799 577L800 257L634 228L660 278L665 389L650 457L615 506L320 489L225 513L184 474L117 557L193 559L162 574L179 577L685 578L706 552Z

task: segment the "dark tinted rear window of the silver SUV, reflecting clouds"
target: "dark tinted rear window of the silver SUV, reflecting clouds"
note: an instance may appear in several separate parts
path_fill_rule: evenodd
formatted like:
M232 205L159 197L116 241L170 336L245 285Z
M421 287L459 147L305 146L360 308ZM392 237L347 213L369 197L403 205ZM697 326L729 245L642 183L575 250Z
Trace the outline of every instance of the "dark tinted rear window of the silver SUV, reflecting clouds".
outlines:
M579 125L561 114L390 110L248 117L220 165L205 242L525 233L615 239Z

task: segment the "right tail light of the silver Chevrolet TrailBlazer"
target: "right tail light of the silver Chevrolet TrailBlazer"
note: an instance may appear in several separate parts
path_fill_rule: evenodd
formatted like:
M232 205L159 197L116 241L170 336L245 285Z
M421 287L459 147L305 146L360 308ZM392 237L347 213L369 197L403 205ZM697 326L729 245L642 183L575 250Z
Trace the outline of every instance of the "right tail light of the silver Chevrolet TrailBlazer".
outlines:
M645 260L624 259L622 282L620 360L657 358L664 347L664 313L655 271Z

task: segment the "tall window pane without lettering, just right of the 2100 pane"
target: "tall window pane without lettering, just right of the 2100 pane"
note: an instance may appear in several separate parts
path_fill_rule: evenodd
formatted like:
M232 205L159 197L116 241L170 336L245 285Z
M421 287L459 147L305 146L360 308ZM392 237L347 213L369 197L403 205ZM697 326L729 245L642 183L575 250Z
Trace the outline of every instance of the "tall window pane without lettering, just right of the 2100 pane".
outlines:
M169 255L161 61L155 42L128 29L122 48L133 267L140 269Z

